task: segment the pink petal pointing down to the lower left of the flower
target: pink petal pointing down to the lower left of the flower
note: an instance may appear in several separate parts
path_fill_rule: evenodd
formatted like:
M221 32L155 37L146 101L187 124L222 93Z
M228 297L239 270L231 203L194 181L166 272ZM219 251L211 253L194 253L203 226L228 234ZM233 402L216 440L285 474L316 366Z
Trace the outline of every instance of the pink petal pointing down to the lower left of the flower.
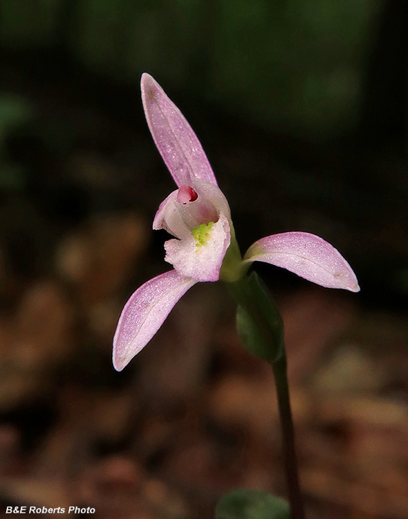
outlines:
M142 284L125 305L113 338L113 366L122 371L149 343L176 302L196 280L169 271Z

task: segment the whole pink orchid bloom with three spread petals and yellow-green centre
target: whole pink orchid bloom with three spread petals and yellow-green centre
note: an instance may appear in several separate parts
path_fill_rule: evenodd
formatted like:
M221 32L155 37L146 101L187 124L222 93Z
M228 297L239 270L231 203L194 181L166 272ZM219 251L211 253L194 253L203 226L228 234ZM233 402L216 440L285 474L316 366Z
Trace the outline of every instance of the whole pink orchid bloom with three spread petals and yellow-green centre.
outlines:
M333 246L309 233L282 233L255 242L241 258L230 207L192 127L149 74L142 75L147 124L177 189L160 204L154 229L174 236L165 260L174 269L149 280L125 305L113 339L113 365L121 371L149 343L176 302L197 282L233 282L250 263L287 268L328 288L360 290L351 266Z

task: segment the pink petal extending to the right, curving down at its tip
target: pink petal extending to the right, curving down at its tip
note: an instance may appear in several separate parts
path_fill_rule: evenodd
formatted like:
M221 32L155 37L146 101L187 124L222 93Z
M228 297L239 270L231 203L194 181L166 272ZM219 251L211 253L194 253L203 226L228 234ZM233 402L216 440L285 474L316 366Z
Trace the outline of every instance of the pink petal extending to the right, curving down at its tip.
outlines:
M357 277L331 244L310 233L281 233L255 242L244 262L266 262L330 289L360 291Z

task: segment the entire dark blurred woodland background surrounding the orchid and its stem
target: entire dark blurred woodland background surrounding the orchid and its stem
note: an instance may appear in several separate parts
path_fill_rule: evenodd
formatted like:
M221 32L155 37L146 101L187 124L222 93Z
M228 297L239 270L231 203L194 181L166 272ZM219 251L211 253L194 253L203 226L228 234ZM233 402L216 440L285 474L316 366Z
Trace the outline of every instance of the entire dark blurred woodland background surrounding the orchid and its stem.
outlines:
M234 486L285 495L270 374L223 286L111 366L124 302L169 267L148 72L242 251L308 231L358 276L355 295L256 266L286 324L310 518L407 516L407 28L405 0L0 0L1 513L207 518Z

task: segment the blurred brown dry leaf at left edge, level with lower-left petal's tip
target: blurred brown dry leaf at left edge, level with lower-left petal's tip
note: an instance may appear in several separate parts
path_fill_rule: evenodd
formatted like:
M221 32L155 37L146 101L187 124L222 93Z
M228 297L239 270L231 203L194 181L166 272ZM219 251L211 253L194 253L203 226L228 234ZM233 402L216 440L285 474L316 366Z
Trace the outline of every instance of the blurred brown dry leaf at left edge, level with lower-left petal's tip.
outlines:
M26 290L15 316L0 327L1 409L46 390L50 370L71 355L72 326L73 309L57 282Z

